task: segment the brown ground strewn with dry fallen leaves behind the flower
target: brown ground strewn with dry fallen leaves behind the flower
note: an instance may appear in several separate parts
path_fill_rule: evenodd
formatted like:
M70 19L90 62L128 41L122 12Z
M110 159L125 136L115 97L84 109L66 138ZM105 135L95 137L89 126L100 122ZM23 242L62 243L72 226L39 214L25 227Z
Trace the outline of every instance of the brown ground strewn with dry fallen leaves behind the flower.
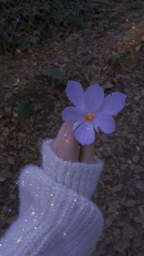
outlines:
M84 89L98 83L105 96L127 95L112 134L97 134L95 153L105 166L92 200L104 216L104 233L93 256L144 255L143 106L144 33L139 12L128 13L118 27L95 37L95 23L67 38L49 38L29 54L9 53L0 69L0 224L1 235L18 216L16 179L27 163L40 166L39 145L56 137L61 112L70 104L65 85L51 87L46 67L57 67L63 77L80 81ZM133 23L135 25L133 25ZM90 59L90 64L85 63ZM87 61L86 61L87 62ZM21 101L29 101L31 117L20 119Z

